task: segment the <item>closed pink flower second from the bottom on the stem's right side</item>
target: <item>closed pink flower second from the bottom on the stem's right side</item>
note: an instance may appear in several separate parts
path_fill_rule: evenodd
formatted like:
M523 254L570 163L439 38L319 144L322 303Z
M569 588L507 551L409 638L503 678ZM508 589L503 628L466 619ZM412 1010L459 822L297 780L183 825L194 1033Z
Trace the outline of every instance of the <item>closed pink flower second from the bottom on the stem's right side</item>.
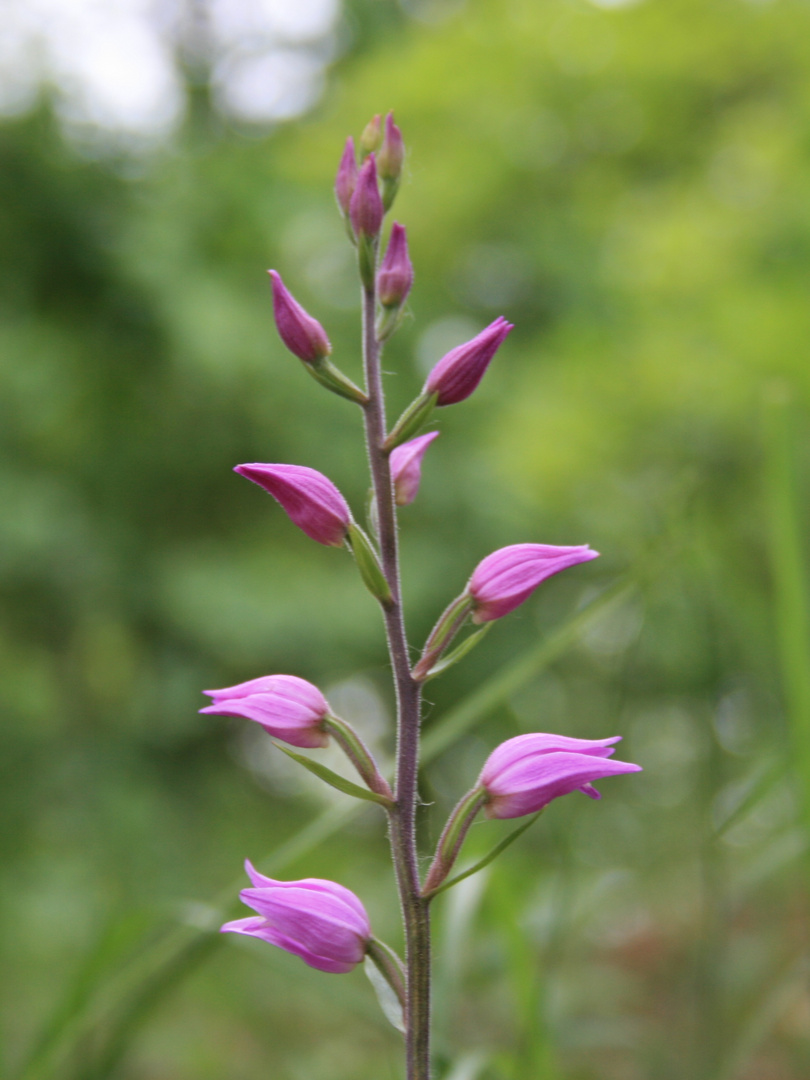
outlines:
M473 622L509 615L553 573L598 556L588 544L555 548L548 543L515 543L487 555L467 586L473 598Z

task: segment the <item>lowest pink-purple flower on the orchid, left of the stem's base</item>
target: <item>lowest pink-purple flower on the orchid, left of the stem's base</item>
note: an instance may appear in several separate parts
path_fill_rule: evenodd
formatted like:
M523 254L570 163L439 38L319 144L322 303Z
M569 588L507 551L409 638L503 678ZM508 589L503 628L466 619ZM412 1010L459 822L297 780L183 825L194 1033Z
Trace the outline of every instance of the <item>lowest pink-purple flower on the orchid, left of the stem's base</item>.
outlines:
M247 934L299 956L310 968L345 974L366 955L372 927L366 909L336 881L274 881L245 862L254 888L239 894L257 916L235 919L221 933Z

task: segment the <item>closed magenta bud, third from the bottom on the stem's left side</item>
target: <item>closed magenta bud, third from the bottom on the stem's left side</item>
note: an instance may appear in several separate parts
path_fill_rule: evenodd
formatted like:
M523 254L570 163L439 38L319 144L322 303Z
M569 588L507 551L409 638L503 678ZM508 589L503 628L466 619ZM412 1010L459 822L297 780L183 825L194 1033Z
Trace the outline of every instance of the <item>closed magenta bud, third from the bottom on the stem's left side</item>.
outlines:
M264 487L299 529L319 543L340 548L352 521L346 499L328 477L306 465L237 465L240 476Z

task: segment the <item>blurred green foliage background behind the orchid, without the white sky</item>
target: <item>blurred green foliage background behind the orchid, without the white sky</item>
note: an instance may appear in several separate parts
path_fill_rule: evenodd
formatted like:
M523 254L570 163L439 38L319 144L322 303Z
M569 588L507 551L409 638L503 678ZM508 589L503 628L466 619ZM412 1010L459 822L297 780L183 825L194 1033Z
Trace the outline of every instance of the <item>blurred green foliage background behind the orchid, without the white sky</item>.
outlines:
M417 278L390 411L515 323L402 514L411 639L497 546L603 553L430 685L424 851L521 731L621 733L645 769L436 903L437 1076L805 1078L810 9L347 0L330 32L285 122L228 114L187 39L160 139L71 126L53 81L0 126L5 1075L401 1076L361 971L212 932L249 856L353 888L399 945L380 815L197 713L291 672L391 751L350 561L231 469L362 507L359 415L283 349L265 271L356 378L332 184L392 108Z

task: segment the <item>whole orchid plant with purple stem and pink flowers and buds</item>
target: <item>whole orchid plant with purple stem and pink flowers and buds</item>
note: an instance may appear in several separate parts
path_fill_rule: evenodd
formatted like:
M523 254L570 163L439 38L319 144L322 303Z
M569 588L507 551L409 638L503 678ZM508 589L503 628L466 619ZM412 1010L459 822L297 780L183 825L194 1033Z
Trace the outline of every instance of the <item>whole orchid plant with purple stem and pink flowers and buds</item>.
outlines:
M379 603L396 698L392 782L351 724L333 713L318 687L295 675L261 675L238 686L207 690L213 701L202 712L261 725L275 745L303 767L347 795L377 802L387 815L404 923L404 960L375 937L362 902L349 889L320 878L276 881L259 874L249 862L245 865L251 888L240 895L256 914L227 922L221 929L286 949L320 971L341 974L360 963L370 966L373 982L399 1005L395 1020L405 1038L408 1080L429 1080L431 901L470 873L451 877L472 822L480 812L494 819L536 816L552 799L573 791L598 798L594 781L635 772L639 767L612 758L619 737L588 740L531 733L509 739L492 751L475 785L459 800L427 876L423 880L420 877L416 811L423 684L461 660L494 621L523 604L546 578L596 558L598 553L588 545L518 543L487 555L474 568L463 592L440 616L419 659L411 663L400 584L396 513L399 507L416 498L424 455L438 434L418 432L435 408L457 404L473 393L512 325L496 319L442 357L422 392L389 429L380 354L401 322L414 281L405 227L393 222L382 258L380 249L404 152L393 116L389 113L384 124L375 117L361 136L360 160L354 140L347 140L335 184L338 207L357 255L364 388L335 366L321 324L294 299L281 275L270 271L282 341L318 382L354 402L362 411L372 478L366 528L357 524L335 484L312 468L266 463L235 468L273 496L312 540L348 549ZM481 624L481 629L450 648L469 623ZM346 753L361 783L352 783L289 748L318 748L329 739ZM499 849L504 846L502 841ZM488 861L483 860L482 865Z

